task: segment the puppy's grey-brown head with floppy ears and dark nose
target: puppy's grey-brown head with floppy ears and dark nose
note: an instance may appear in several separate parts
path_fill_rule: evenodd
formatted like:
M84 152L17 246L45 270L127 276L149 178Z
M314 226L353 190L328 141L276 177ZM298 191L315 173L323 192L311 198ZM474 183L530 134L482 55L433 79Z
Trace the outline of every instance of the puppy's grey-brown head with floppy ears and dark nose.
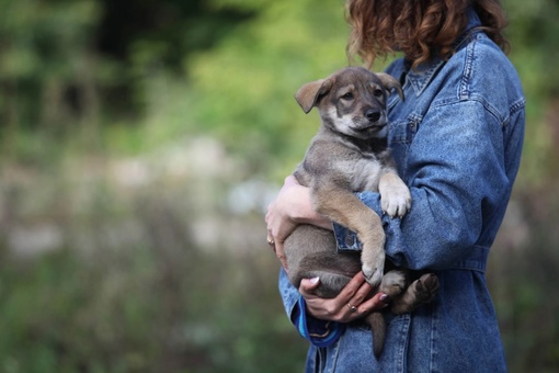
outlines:
M387 74L373 74L363 67L349 67L326 79L303 86L295 99L305 111L315 106L323 125L357 138L386 137L386 102L396 89L403 100L400 83Z

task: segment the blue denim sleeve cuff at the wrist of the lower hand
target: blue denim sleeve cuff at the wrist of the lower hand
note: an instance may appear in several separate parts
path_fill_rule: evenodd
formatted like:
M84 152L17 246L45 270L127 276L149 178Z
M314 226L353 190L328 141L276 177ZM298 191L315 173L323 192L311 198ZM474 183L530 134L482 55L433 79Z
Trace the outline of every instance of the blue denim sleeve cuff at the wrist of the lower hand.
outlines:
M319 320L311 315L307 315L305 298L289 283L283 269L280 271L280 293L289 320L303 338L317 347L327 347L338 341L345 329L345 325Z

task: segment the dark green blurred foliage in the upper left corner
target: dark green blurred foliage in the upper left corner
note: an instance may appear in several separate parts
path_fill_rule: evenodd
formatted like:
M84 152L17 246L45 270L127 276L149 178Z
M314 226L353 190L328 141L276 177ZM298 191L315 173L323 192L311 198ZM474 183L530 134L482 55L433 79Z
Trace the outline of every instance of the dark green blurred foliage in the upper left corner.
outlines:
M185 56L252 15L202 0L4 0L2 155L25 156L14 142L20 131L57 140L79 135L80 147L99 149L101 126L146 114L152 77L176 74Z

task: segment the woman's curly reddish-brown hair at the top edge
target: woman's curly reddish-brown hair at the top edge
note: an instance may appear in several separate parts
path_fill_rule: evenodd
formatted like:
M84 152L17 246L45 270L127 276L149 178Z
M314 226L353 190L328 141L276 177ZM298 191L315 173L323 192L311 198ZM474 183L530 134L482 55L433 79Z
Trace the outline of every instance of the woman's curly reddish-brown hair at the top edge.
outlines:
M347 55L358 55L369 67L376 57L395 52L413 67L432 57L448 59L466 29L469 7L489 37L507 52L502 34L507 22L499 0L347 0Z

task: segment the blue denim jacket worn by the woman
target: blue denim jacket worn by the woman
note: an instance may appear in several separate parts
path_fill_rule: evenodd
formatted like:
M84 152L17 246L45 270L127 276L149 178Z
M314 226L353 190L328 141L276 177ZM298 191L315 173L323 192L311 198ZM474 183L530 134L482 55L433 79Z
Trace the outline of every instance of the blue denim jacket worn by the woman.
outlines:
M411 70L399 59L387 69L406 97L389 100L389 144L411 190L411 211L391 219L383 216L378 193L357 193L383 216L387 258L434 271L440 293L412 314L387 316L376 361L370 330L306 315L282 270L285 309L310 341L308 372L506 371L484 270L518 170L525 99L512 64L479 25L470 11L447 61ZM361 249L352 231L334 224L334 233L340 251Z

